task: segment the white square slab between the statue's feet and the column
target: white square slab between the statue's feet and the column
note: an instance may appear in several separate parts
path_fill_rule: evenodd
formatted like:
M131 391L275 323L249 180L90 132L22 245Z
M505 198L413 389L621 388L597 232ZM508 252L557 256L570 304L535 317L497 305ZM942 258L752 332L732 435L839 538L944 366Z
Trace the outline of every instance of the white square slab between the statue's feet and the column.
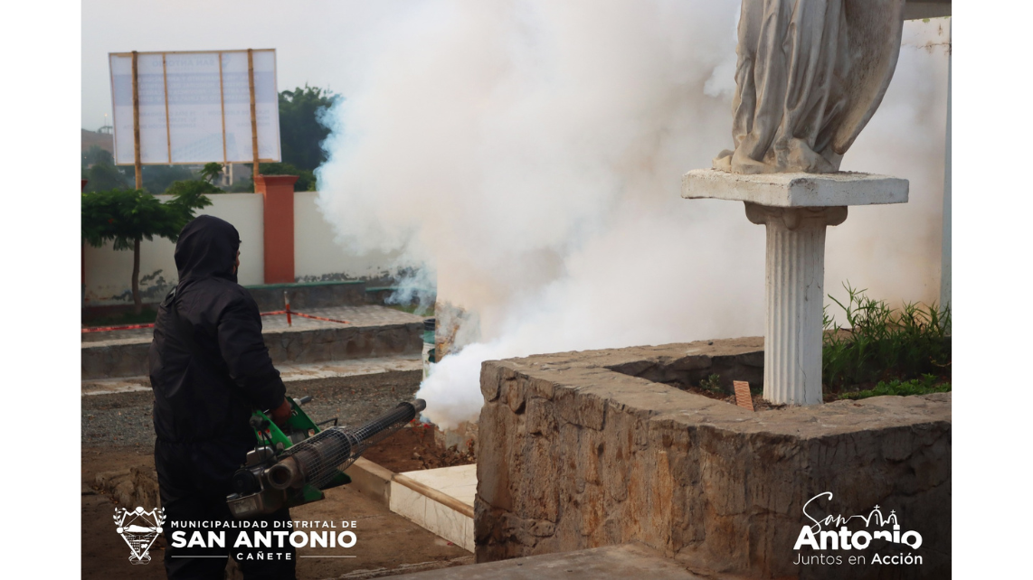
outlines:
M682 197L727 199L775 207L907 203L908 181L874 173L761 173L693 169L682 175Z

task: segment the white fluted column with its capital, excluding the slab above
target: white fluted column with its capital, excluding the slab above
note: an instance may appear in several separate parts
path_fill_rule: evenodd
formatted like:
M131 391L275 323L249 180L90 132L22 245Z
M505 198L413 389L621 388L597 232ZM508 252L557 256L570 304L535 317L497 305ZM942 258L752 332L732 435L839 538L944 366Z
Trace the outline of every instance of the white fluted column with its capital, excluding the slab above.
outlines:
M772 207L746 203L746 217L768 230L764 294L764 398L821 402L821 312L825 227L846 207Z

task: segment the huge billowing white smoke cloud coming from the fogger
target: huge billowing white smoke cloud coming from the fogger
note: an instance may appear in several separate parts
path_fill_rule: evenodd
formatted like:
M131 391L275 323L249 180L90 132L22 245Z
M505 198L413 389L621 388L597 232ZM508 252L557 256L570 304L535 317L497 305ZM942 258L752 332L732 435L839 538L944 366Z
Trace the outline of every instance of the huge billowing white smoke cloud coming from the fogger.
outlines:
M367 32L319 202L351 251L402 250L477 313L480 342L421 386L431 420L476 418L486 359L762 332L763 228L740 203L679 197L682 173L731 146L738 13L438 2ZM844 163L911 179L912 204L831 230L828 289L935 298L945 59L929 55L902 53Z

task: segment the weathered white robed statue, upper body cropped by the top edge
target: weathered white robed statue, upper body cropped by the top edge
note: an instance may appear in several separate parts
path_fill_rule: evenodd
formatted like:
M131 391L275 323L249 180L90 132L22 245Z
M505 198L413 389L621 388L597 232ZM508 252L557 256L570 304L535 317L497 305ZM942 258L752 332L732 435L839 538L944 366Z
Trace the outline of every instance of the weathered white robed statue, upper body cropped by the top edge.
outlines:
M732 101L735 173L831 173L897 67L904 0L743 0Z

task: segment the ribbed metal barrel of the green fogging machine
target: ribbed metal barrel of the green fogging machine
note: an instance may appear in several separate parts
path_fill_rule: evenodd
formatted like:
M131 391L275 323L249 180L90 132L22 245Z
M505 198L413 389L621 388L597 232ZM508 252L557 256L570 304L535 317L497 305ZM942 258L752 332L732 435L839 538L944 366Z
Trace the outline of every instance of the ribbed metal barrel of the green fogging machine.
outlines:
M290 447L286 457L267 472L269 483L276 489L309 484L321 489L335 474L343 472L371 445L415 419L427 408L421 398L400 402L398 407L351 429L331 427Z

